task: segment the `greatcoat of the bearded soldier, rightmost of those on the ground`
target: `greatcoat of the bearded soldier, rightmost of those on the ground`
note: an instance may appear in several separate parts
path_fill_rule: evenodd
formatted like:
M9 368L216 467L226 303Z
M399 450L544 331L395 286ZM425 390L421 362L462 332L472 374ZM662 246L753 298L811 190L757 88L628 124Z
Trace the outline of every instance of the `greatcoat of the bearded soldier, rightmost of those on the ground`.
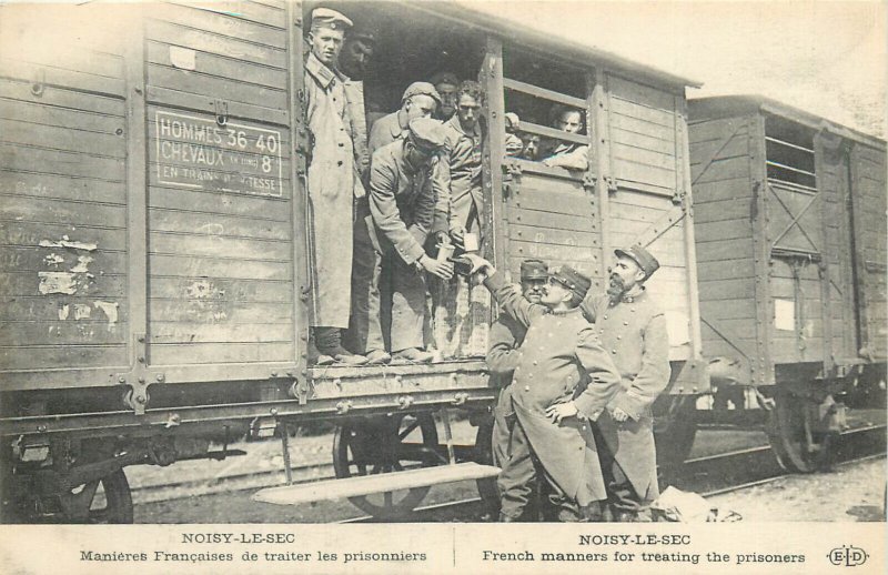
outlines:
M670 374L666 316L644 291L616 305L606 295L587 296L582 307L619 370L619 391L607 408L630 417L615 422L605 411L598 428L635 492L652 501L659 494L652 405Z

